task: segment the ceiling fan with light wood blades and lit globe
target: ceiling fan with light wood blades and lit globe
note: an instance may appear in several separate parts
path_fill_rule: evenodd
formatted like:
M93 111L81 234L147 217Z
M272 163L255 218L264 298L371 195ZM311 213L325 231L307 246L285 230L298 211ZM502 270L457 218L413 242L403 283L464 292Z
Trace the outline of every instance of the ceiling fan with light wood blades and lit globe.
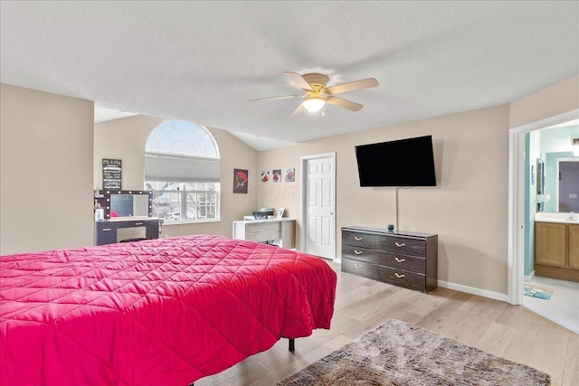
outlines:
M300 75L297 72L284 72L289 80L293 81L299 89L305 91L304 95L287 95L284 97L272 97L272 98L261 98L261 99L250 99L254 100L273 100L273 99L294 99L301 98L304 99L296 108L296 110L291 114L291 118L298 117L305 110L310 112L319 111L324 107L326 103L330 105L337 106L339 108L347 108L351 111L357 111L364 106L359 103L352 102L346 99L341 99L335 97L336 94L341 94L343 92L355 91L356 89L368 89L370 87L376 87L378 85L378 80L374 78L368 78L364 80L356 80L348 83L338 84L336 86L326 87L327 80L329 78L327 75L310 73L305 75Z

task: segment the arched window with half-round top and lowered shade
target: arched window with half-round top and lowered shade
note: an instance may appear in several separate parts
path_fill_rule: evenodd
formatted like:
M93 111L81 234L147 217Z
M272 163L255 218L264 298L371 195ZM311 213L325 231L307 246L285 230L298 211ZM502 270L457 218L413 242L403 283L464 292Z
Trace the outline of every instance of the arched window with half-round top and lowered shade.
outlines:
M154 216L167 222L219 220L219 150L203 127L181 120L159 125L147 140L145 189Z

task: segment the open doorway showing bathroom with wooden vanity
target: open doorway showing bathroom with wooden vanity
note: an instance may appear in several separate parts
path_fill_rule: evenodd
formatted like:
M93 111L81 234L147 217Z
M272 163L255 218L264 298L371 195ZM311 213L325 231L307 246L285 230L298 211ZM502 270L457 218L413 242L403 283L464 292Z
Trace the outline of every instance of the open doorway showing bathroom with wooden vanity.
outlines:
M579 202L574 198L579 192L576 188L570 192L561 189L557 167L561 160L579 161L579 146L574 146L579 142L574 141L579 137L577 117L579 110L510 132L509 299L579 333L579 267L570 267L573 250L568 239L570 229L579 230L579 221L571 218L572 211L563 212L567 207L559 204L563 194L572 204ZM574 218L579 215L574 214ZM542 229L547 229L547 233L536 235L536 224L546 225ZM545 251L536 251L545 244L546 261ZM536 265L536 253L542 256L541 265ZM557 253L559 260L555 259ZM570 275L559 277L557 272Z

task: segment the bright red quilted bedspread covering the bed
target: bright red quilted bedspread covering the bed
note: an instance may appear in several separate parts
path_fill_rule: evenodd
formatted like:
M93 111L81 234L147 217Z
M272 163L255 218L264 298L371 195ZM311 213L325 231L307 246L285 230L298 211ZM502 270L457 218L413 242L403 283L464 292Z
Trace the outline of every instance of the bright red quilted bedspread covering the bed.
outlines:
M2 256L0 280L2 386L186 386L329 328L337 276L203 235Z

